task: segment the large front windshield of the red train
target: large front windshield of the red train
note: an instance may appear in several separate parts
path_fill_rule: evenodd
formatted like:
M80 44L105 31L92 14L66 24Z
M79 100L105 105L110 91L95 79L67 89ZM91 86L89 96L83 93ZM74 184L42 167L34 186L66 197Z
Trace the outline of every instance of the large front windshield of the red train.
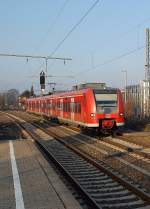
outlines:
M97 113L115 113L117 112L117 94L116 93L95 93Z

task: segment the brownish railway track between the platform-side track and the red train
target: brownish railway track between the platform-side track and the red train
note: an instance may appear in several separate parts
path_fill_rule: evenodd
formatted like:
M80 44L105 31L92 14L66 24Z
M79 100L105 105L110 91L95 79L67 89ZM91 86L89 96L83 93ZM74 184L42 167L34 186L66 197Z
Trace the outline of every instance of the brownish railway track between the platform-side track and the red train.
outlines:
M37 119L39 119L37 116L29 115L28 117L26 114L23 114L23 117L30 120L30 122L33 121L33 117L34 124L37 125ZM118 145L112 144L113 138L105 138L102 141L57 124L38 124L42 125L44 130L47 130L51 134L57 133L57 136L64 138L67 143L73 144L77 149L97 161L101 160L105 162L121 175L129 177L132 181L147 188L150 192L150 160L137 154L135 152L136 149L128 151L129 148L133 149L133 144L132 147L129 145L126 149L123 149ZM118 144L117 139L115 140L115 143Z

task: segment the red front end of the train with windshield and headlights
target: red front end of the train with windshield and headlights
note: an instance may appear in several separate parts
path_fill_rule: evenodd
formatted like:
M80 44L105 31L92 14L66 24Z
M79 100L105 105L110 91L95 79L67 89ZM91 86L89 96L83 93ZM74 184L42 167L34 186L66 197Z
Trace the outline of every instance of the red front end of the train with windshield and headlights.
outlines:
M115 130L123 126L124 107L119 89L93 90L96 105L96 120L101 130Z

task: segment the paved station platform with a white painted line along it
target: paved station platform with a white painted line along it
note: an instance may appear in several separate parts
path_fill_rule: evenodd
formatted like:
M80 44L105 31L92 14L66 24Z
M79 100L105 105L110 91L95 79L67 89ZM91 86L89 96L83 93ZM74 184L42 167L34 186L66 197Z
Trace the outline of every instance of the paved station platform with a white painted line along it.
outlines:
M0 141L1 209L81 209L29 139Z

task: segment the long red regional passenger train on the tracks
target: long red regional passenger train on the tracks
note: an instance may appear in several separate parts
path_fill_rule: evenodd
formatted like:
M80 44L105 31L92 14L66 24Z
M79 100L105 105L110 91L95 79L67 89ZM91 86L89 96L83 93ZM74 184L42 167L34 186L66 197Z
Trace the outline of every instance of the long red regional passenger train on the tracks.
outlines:
M30 98L27 99L27 111L101 131L112 131L124 125L119 89L85 88Z

